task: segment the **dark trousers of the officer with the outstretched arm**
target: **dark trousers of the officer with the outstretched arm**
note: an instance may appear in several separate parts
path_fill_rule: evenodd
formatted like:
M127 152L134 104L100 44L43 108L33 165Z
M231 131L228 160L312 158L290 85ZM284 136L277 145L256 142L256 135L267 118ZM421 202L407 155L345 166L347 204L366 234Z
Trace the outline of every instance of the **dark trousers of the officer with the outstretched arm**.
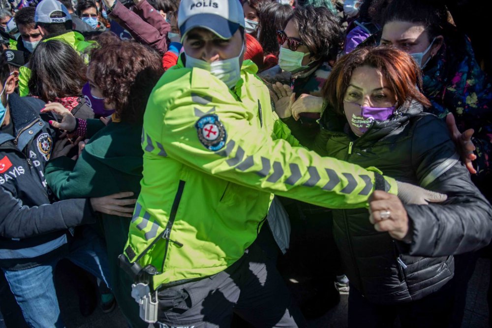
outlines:
M224 271L159 290L159 327L227 328L233 313L254 327L307 327L272 261L274 253L263 249L264 238L269 239L265 226L245 255Z

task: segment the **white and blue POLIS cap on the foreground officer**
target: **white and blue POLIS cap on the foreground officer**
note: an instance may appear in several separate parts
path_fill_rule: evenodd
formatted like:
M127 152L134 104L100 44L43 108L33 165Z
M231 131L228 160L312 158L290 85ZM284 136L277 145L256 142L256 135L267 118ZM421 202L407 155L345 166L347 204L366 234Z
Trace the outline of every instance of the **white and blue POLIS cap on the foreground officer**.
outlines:
M181 0L178 26L182 37L191 29L204 28L223 39L231 38L240 26L246 27L239 0Z

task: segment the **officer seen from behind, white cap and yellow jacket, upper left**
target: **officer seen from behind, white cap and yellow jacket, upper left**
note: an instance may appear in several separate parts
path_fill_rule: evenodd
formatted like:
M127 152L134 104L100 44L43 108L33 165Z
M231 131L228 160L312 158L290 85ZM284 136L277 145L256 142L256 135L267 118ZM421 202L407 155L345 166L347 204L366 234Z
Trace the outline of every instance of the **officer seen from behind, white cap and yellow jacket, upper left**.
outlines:
M41 42L59 39L65 41L75 49L86 61L89 62L88 50L97 45L95 41L86 41L84 36L78 32L67 30L72 26L70 13L66 7L57 0L43 0L36 6L34 22L43 35ZM29 65L19 68L19 95L29 95L29 79L31 69Z

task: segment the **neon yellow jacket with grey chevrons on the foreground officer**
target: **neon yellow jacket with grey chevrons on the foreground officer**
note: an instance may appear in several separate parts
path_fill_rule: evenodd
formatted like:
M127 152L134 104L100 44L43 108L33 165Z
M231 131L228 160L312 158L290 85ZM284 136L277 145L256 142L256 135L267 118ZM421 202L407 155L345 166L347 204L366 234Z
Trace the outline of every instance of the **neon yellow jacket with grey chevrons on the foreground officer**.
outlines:
M213 275L241 258L272 193L332 208L368 206L377 169L301 147L256 72L245 61L234 93L210 72L179 63L154 87L142 132L142 190L124 254L160 272L155 288ZM396 181L384 179L396 194Z

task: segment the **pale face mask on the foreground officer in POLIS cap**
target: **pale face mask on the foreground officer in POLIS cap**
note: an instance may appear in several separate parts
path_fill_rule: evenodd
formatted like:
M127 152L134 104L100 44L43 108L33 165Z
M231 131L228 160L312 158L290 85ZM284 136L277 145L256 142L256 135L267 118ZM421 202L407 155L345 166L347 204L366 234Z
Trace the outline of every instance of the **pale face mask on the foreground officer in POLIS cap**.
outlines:
M243 48L241 48L241 52L239 56L225 59L223 61L215 61L213 63L208 63L201 59L196 59L191 56L186 55L186 67L187 68L202 68L209 71L216 78L220 79L224 82L229 89L236 86L236 83L241 79L241 66L239 65L239 61L243 56L244 51L244 43Z

